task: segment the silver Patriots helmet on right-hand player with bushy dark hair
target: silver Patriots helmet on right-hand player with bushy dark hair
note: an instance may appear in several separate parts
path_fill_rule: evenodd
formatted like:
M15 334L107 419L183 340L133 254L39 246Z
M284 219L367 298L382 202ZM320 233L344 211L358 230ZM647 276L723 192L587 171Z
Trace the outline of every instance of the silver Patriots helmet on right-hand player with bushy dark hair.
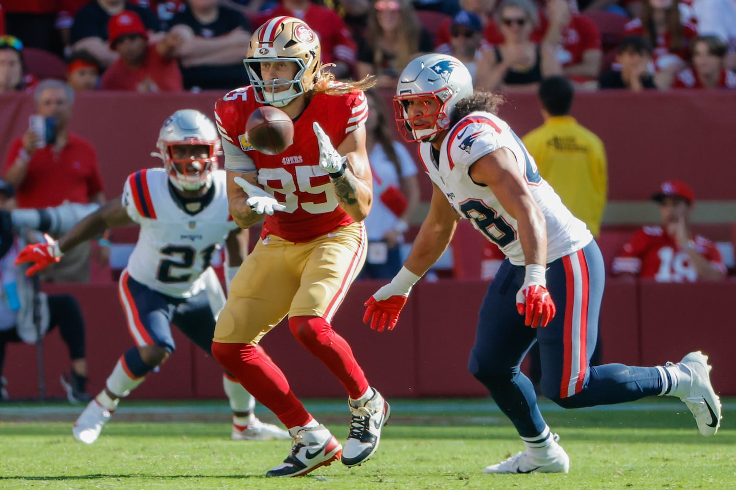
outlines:
M405 141L433 141L437 133L450 127L450 113L456 104L473 95L473 78L465 65L449 54L430 53L411 60L401 72L394 96L396 124ZM406 113L406 102L434 97L439 104L430 124L414 125Z

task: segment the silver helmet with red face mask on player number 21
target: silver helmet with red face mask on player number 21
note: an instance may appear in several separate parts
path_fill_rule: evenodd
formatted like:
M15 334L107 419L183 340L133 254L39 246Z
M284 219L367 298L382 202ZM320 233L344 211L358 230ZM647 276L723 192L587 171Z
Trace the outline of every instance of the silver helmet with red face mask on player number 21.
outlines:
M177 160L174 158L173 147L181 145L208 146L208 157ZM156 146L158 153L151 155L163 160L163 167L169 173L169 181L175 188L180 191L197 191L202 186L210 186L212 171L217 169L217 158L221 153L220 138L210 118L199 110L177 110L163 123Z

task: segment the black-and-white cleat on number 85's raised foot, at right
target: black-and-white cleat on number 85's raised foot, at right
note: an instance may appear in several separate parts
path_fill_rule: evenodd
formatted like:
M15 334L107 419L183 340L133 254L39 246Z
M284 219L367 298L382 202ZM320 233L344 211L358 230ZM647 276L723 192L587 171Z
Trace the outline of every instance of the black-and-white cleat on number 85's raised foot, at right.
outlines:
M350 406L353 419L341 461L345 466L358 466L368 461L378 449L381 429L391 416L391 407L375 389L373 396L367 400L348 399L347 405Z

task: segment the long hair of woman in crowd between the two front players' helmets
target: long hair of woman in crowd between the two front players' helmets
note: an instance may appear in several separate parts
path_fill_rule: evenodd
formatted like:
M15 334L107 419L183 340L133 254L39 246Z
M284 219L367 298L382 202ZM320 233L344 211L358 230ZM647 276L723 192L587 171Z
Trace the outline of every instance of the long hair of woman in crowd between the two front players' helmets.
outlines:
M414 54L419 52L419 41L422 24L420 24L417 11L409 0L397 0L400 6L398 40L396 43L396 67L397 71L403 70ZM378 12L371 8L368 13L368 29L366 38L373 49L373 66L375 68L383 65L383 50L378 46L378 40L383 38L384 32L381 24L378 24Z

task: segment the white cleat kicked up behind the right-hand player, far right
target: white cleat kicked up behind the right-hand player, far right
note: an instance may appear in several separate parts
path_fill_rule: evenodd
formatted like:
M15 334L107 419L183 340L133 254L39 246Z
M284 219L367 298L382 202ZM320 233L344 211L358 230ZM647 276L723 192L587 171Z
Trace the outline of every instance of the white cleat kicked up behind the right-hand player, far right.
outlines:
M677 369L676 386L670 390L670 396L682 400L698 424L700 433L712 436L721 427L721 399L713 391L710 384L708 356L699 350L690 352L679 363L667 363L665 368Z

